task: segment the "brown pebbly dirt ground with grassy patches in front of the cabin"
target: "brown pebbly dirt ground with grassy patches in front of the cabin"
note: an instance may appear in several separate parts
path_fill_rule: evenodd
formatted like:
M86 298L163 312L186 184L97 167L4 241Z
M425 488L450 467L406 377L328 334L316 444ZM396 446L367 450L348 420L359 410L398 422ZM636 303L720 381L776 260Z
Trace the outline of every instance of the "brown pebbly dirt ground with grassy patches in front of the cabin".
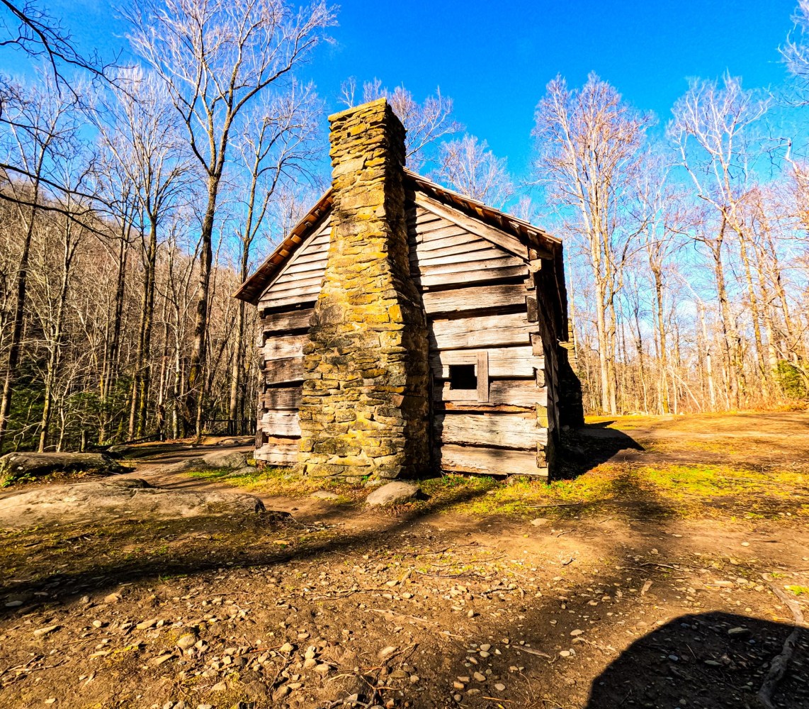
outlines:
M809 618L809 414L566 443L570 481L451 476L385 511L138 459L288 514L0 530L0 707L765 706ZM809 707L797 635L775 707Z

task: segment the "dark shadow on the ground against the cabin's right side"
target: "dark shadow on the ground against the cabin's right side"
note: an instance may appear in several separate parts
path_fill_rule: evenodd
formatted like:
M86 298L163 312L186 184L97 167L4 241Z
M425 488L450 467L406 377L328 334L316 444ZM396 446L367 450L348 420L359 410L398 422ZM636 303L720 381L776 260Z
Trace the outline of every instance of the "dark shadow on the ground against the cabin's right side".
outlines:
M606 463L617 453L630 449L644 450L631 436L616 428L612 421L586 423L581 428L563 431L557 451L557 478L573 480Z

